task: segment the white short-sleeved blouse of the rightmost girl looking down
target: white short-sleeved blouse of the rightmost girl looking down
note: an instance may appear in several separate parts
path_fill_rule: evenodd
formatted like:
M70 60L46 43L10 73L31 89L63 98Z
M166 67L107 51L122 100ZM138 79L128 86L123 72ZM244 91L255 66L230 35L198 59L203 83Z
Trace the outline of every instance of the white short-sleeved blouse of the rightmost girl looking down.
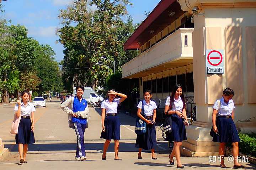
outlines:
M218 100L217 100L218 101ZM220 108L218 102L215 102L213 108L217 111L219 110L220 116L231 116L233 109L235 108L234 101L231 99L228 104L225 103L224 98L220 98Z

